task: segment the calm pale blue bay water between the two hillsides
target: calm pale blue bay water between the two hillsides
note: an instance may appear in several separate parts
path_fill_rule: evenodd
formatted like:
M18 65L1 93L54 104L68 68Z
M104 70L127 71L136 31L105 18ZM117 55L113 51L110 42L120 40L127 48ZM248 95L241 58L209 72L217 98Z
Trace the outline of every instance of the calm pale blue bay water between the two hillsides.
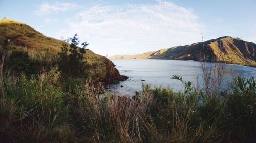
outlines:
M182 76L184 81L193 81L203 86L201 64L197 61L180 60L151 60L129 59L112 60L121 75L129 77L127 81L120 81L112 85L110 90L121 95L133 96L135 91L141 91L142 83L154 86L171 87L174 91L183 90L184 86L178 80L172 79L173 75ZM214 63L207 63L212 66ZM231 79L236 75L251 77L256 76L256 68L225 64L223 71L222 88L226 88ZM122 86L122 87L121 87Z

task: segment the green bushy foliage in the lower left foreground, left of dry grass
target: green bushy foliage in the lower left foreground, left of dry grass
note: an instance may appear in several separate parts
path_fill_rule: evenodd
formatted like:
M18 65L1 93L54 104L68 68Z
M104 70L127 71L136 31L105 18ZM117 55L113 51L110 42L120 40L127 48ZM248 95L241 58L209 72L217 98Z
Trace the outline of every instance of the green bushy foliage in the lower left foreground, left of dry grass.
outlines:
M67 124L70 107L57 85L59 74L55 67L38 78L22 74L6 79L7 96L0 99L0 141L74 142Z

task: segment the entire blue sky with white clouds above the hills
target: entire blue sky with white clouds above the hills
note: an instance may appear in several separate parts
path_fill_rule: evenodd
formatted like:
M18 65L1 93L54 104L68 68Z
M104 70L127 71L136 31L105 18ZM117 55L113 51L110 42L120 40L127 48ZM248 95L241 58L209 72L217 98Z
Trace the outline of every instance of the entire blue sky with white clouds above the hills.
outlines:
M103 56L138 54L222 36L256 43L255 0L0 0L0 16L46 36L75 33Z

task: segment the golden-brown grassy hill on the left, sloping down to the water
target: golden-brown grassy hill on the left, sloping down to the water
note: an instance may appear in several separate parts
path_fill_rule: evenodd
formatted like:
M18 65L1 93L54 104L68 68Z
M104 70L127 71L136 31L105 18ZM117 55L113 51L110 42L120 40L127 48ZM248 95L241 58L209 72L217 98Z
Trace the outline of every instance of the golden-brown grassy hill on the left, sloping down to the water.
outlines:
M25 23L0 19L0 48L6 47L9 53L14 50L25 51L42 66L52 66L56 63L62 44L68 43L47 37ZM91 50L86 51L84 61L90 65L90 76L96 82L111 83L127 78L119 74L109 59Z

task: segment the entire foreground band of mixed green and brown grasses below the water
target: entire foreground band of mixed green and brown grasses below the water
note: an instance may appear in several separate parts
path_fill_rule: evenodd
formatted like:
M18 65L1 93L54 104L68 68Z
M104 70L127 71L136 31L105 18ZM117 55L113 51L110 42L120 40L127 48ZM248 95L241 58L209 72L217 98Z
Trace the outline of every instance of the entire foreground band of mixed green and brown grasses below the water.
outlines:
M2 74L1 74L2 75ZM231 91L205 96L143 85L135 97L112 95L57 67L37 76L3 76L0 142L253 142L256 81L236 77ZM177 77L178 78L178 77ZM69 87L69 88L67 88ZM104 96L99 98L100 94Z

